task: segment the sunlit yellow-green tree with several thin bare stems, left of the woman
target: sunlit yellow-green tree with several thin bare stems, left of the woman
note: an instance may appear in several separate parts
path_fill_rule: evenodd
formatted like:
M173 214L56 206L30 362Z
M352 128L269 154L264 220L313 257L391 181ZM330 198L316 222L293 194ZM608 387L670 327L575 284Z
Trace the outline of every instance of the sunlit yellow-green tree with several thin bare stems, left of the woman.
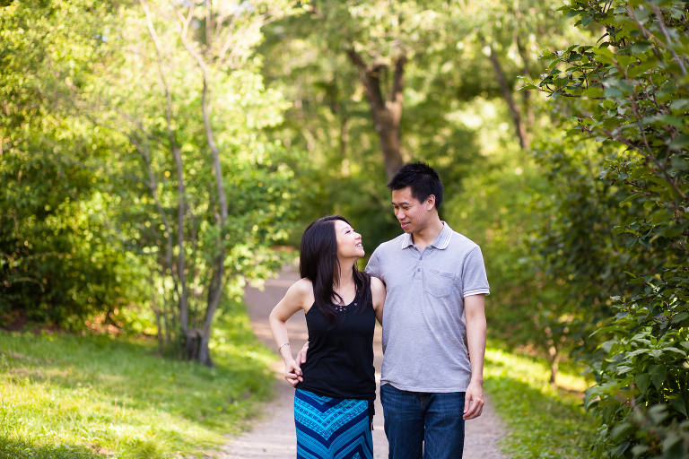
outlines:
M29 65L42 81L22 80L19 65L10 76L28 100L45 100L65 123L102 135L94 174L109 231L100 242L148 272L141 283L161 344L211 365L215 312L228 294L240 294L245 276L279 266L270 247L289 229L299 186L287 166L299 152L265 134L288 104L264 88L253 58L261 27L289 8L146 1L93 8L87 0L48 2L52 14L10 8L12 17L39 24L39 49L53 50L49 33L91 47L81 72L58 58Z

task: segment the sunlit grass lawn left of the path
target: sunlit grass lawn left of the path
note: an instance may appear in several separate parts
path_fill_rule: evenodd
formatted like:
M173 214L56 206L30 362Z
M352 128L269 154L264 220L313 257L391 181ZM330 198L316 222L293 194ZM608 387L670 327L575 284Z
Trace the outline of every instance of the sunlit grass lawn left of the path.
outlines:
M274 377L243 308L221 319L216 368L161 358L150 340L0 332L0 457L153 459L222 445Z

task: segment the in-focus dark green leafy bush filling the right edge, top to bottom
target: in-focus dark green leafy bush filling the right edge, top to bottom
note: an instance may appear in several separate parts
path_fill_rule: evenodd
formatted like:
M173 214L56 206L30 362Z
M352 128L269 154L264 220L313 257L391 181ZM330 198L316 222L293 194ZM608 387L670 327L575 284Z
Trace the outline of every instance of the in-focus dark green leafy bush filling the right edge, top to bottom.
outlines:
M607 267L630 272L644 256L666 266L631 274L641 291L616 298L617 314L597 333L609 339L605 358L591 361L597 385L587 406L602 422L593 448L598 457L686 457L689 3L589 0L561 11L604 35L597 46L546 52L547 70L525 88L556 100L556 117L573 125L566 143L600 143L600 178L623 190L630 216L613 233L627 235L628 253L646 250Z

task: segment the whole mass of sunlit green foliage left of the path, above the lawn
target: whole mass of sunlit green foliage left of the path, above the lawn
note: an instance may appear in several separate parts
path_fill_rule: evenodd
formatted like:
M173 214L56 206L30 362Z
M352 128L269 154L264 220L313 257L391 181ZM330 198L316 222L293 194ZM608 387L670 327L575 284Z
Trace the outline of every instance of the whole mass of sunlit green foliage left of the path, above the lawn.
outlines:
M265 134L288 104L251 57L290 10L254 6L0 10L0 312L79 328L145 306L137 331L211 362L214 313L279 266L299 186L299 152Z

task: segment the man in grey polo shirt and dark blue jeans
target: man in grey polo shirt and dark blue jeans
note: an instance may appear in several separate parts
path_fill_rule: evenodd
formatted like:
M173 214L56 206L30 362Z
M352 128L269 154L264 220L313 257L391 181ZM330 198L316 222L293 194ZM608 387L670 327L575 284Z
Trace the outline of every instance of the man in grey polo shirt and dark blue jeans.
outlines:
M464 421L484 406L483 255L440 221L442 182L430 166L406 164L388 188L404 234L376 248L366 266L387 290L380 402L388 457L460 459Z

